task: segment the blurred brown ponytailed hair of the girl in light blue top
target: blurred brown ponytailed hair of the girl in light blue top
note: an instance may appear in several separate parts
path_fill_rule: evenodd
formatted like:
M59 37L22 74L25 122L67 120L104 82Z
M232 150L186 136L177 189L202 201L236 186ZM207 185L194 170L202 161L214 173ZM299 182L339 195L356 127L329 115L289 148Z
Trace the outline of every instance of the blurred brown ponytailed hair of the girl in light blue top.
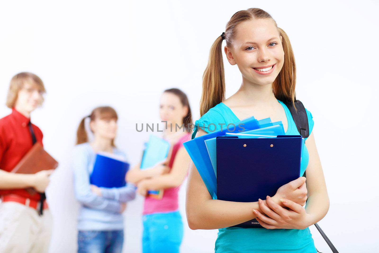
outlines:
M88 142L88 135L85 129L85 120L90 118L90 121L95 119L118 119L116 110L110 106L100 106L92 110L89 116L84 117L79 124L78 130L76 132L76 144L81 144ZM92 131L92 130L91 130ZM114 139L112 140L112 146L114 147Z

